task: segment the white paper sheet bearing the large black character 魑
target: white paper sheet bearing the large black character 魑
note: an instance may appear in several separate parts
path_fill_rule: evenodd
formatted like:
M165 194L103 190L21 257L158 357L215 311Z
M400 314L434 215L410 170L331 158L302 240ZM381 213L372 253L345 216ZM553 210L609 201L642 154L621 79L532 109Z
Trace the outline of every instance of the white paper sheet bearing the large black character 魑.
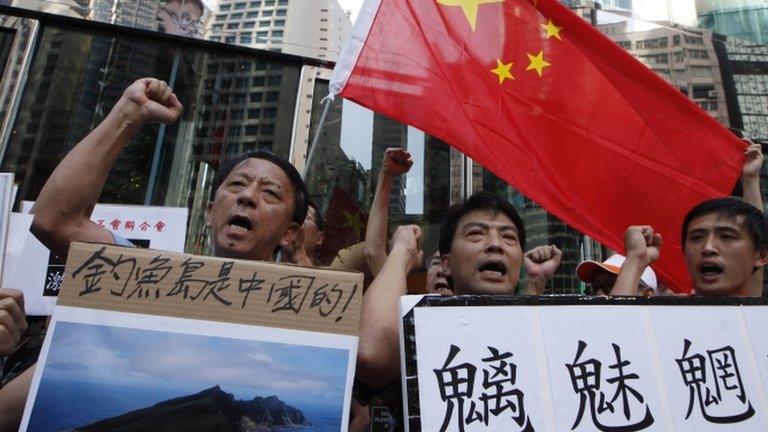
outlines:
M414 308L422 431L547 429L551 415L546 380L541 379L546 377L544 353L531 349L536 334L532 313L522 308Z

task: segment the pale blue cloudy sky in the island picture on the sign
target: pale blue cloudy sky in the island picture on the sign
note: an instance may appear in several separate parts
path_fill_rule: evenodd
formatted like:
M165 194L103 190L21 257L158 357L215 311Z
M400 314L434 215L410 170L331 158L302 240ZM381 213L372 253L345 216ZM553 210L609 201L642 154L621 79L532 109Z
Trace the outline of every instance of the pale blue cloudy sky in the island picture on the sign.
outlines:
M220 385L240 399L344 396L348 354L341 349L67 322L55 332L46 373L60 377L199 390Z

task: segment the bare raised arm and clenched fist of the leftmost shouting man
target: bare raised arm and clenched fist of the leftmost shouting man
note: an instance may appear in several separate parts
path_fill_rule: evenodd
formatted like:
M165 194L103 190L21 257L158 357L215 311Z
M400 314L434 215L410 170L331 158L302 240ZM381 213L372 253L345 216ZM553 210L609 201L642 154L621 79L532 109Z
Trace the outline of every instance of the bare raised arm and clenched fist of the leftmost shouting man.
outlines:
M129 86L104 121L48 178L32 209L32 233L61 257L75 240L112 243L110 233L89 219L110 169L144 125L172 123L181 109L163 81L143 78Z

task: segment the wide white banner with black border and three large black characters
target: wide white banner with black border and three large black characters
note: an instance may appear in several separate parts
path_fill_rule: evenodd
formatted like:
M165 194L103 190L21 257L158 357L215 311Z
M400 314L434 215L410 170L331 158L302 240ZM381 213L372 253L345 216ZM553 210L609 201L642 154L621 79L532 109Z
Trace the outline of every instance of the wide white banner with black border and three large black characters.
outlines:
M768 303L401 300L410 432L768 430Z

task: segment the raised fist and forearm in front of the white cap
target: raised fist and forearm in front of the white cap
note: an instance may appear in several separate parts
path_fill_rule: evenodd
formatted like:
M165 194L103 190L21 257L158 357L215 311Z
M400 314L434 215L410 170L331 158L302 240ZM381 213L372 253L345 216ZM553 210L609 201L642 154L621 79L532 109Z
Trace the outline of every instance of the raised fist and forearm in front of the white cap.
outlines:
M626 259L621 266L612 296L636 296L637 286L645 268L659 259L661 234L650 226L631 226L624 233Z

